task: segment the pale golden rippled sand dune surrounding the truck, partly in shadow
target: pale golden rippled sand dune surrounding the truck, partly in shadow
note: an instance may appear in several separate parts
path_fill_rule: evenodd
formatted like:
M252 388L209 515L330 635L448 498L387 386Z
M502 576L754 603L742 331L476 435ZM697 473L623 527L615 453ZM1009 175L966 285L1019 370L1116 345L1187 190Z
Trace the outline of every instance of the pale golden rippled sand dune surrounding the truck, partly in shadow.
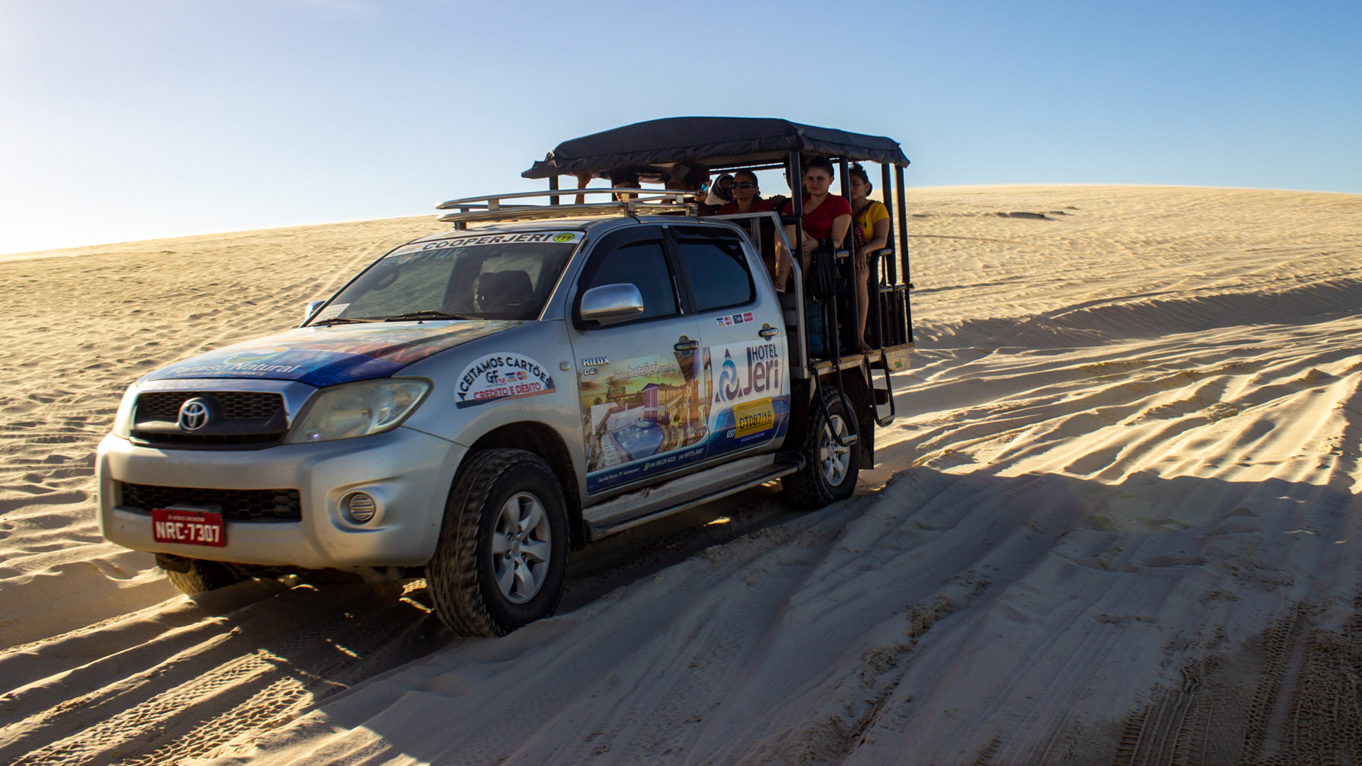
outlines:
M451 639L419 581L195 604L93 519L127 382L432 221L0 262L0 761L1362 762L1362 196L910 210L918 352L858 496L592 545L496 641Z

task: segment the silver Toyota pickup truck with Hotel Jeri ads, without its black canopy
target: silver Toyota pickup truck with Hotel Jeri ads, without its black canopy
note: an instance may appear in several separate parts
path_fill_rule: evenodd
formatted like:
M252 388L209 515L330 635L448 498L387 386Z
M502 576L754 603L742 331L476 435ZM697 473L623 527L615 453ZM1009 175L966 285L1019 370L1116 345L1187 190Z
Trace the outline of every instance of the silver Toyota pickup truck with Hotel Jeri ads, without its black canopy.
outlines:
M855 292L778 292L763 251L799 243L775 214L565 194L445 203L454 230L301 327L139 379L98 450L105 537L187 593L424 574L454 631L504 635L553 612L591 540L778 478L798 507L849 497L892 418L907 285L881 264L874 350L842 354Z

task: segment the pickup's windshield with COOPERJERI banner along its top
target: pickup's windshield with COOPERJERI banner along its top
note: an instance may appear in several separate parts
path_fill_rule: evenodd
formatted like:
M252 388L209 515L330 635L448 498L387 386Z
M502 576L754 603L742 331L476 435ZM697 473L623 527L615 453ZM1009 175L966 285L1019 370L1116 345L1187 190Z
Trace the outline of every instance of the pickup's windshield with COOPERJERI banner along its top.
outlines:
M535 319L582 240L582 232L533 232L410 244L365 270L312 323Z

